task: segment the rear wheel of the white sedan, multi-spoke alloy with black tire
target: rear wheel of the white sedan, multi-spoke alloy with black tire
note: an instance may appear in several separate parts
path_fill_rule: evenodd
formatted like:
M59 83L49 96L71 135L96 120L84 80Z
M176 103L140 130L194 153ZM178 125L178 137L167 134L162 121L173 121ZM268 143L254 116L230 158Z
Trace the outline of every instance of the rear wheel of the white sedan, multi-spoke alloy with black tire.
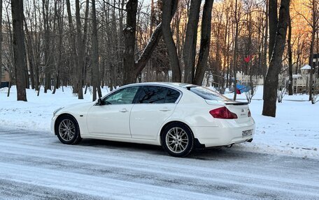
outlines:
M192 130L184 123L171 123L162 132L162 146L164 150L174 157L185 157L194 148Z

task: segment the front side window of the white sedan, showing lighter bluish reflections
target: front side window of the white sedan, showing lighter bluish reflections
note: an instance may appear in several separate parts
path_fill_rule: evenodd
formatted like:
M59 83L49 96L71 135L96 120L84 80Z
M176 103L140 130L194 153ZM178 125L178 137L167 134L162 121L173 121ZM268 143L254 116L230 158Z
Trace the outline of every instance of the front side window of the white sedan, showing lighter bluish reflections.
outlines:
M132 104L139 86L120 89L104 98L106 105Z

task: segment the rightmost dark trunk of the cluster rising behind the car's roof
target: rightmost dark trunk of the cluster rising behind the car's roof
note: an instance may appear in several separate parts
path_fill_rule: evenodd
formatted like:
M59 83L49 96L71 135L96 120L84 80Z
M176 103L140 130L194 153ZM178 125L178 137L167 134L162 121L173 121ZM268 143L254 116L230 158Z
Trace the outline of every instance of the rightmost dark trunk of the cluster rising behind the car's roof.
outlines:
M206 0L204 4L201 22L201 47L199 49L199 58L196 66L196 74L194 77L194 81L192 82L199 86L201 86L204 79L209 54L209 47L211 45L211 11L213 8L213 3L214 0Z

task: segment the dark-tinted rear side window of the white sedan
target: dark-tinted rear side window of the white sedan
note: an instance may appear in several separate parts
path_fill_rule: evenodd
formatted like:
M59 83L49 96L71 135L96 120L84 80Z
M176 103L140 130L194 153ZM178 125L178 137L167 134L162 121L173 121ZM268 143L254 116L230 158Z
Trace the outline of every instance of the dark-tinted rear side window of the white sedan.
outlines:
M162 86L143 86L136 103L174 103L180 93Z

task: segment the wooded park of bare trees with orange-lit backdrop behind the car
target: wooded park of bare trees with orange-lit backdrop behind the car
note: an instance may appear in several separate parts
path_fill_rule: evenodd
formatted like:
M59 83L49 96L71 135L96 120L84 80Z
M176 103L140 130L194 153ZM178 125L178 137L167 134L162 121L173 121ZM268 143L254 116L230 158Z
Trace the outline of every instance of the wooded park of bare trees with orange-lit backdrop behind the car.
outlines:
M318 0L0 0L1 70L25 89L55 93L72 86L83 98L93 86L134 82L201 85L218 89L236 74L264 77L263 114L276 116L279 75L290 79L311 66L316 86ZM318 59L317 59L318 60ZM205 81L204 81L205 79ZM84 91L83 91L84 89ZM253 91L253 90L252 90ZM234 93L236 100L236 93Z

